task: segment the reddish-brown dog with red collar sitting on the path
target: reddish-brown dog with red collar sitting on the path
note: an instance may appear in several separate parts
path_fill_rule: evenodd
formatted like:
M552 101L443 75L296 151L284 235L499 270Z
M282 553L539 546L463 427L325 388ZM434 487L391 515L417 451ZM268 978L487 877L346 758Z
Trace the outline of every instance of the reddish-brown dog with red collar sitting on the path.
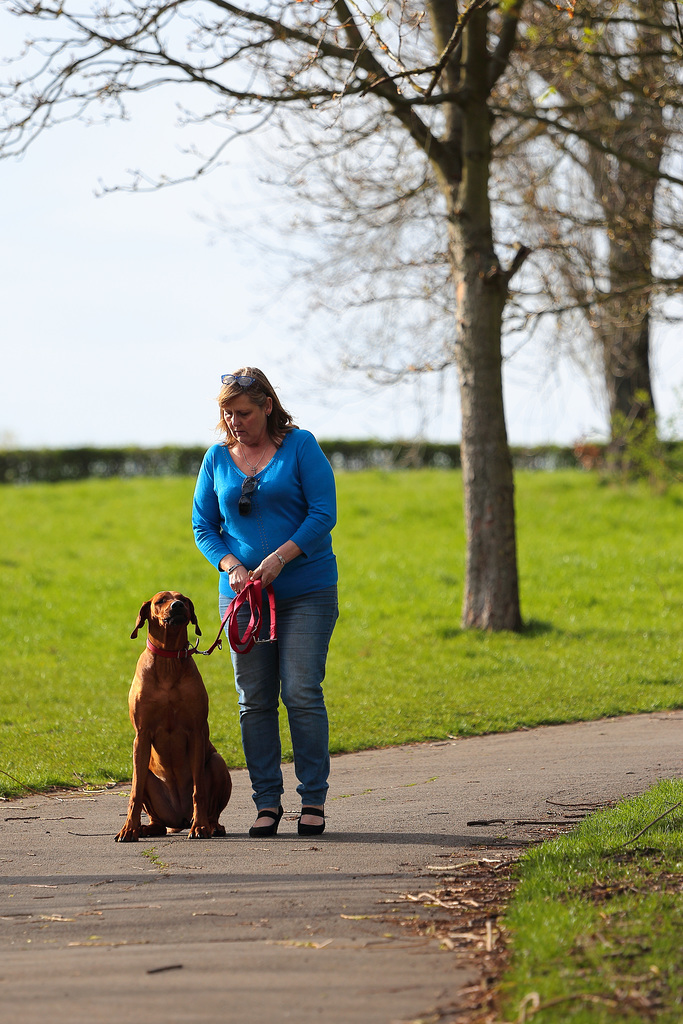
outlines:
M189 652L187 626L202 631L195 606L177 591L145 601L131 640L148 624L128 695L133 741L133 782L128 816L116 837L136 843L140 836L165 836L189 828L189 839L224 836L220 813L230 799L227 766L209 740L209 695ZM150 824L140 823L144 809Z

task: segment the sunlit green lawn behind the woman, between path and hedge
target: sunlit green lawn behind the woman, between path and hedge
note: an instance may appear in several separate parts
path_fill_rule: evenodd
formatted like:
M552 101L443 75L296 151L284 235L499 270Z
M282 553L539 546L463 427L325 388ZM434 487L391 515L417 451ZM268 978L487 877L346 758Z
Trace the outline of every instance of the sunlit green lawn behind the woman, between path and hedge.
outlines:
M0 793L130 776L139 605L182 590L206 646L218 627L193 488L187 478L0 488L0 770L17 780L0 774ZM520 635L459 628L459 473L342 474L338 490L333 751L683 707L680 486L652 496L579 472L518 474ZM242 765L227 651L200 666L212 738Z

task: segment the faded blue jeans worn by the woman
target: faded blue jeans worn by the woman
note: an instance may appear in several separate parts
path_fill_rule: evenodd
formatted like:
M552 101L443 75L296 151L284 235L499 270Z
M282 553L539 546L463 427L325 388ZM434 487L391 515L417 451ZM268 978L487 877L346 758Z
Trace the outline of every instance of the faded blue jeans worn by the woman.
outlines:
M229 599L220 595L221 618ZM247 654L231 651L240 699L240 727L257 810L278 807L284 793L279 702L282 694L292 737L297 793L302 805L323 806L330 774L330 729L323 680L330 638L339 617L337 588L276 602L278 639L257 643ZM268 636L263 601L261 637ZM238 612L240 633L249 608Z

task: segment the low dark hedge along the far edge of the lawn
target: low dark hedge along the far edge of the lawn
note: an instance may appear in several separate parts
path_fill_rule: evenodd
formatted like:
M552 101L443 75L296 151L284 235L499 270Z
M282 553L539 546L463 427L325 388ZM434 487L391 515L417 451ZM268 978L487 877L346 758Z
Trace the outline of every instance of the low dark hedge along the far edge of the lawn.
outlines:
M396 441L321 441L336 470L401 469L460 466L459 444ZM112 476L196 476L205 449L167 445L159 449L80 447L0 452L0 483L55 483ZM513 449L516 468L575 467L571 449L546 445Z

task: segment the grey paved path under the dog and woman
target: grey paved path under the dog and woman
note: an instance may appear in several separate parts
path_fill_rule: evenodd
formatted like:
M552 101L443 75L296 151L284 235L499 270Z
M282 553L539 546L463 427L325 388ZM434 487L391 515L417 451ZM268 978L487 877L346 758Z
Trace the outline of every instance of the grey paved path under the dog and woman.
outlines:
M683 712L333 759L325 836L250 840L233 772L227 837L117 844L127 787L0 805L0 996L20 1024L390 1024L453 1005L471 967L400 927L429 865L557 819L558 804L681 776ZM541 829L542 830L542 829ZM537 829L538 834L538 829ZM496 854L493 854L494 856ZM387 915L396 914L396 924ZM381 919L381 920L380 920ZM457 1013L449 1015L457 1021Z

